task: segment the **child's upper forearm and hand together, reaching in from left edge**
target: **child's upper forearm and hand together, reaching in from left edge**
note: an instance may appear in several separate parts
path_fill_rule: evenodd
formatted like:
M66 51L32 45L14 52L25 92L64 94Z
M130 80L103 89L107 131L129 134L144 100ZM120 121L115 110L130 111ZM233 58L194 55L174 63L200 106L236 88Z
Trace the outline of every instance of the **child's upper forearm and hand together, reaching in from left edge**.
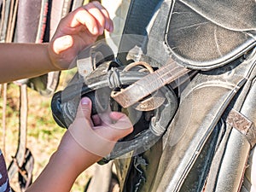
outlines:
M45 44L0 44L0 83L68 69L79 51L113 31L108 11L98 2L62 18L54 37Z

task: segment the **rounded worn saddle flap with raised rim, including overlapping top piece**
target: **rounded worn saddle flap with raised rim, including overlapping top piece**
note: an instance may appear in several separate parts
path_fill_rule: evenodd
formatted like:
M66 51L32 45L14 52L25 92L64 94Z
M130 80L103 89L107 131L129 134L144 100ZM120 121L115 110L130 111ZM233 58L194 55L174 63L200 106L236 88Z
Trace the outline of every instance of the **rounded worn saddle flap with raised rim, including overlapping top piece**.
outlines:
M170 10L166 45L185 67L209 70L224 66L255 46L253 1L176 1Z

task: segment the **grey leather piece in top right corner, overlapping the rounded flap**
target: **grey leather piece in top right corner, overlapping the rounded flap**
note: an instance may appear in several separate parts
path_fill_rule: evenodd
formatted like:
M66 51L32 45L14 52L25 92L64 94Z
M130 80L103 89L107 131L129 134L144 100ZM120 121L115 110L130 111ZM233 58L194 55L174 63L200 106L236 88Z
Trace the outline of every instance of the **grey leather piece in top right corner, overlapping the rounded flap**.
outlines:
M180 0L196 13L233 31L256 29L256 3L253 0Z

